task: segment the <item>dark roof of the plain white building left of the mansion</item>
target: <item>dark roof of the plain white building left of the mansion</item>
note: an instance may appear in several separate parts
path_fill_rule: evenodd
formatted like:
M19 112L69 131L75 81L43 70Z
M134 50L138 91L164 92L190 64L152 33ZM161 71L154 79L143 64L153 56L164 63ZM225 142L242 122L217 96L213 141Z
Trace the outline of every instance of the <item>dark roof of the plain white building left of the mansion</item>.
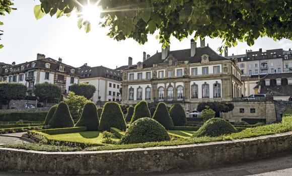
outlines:
M122 73L119 70L114 70L104 66L83 66L78 68L78 74L81 75L81 79L93 78L93 77L104 77L112 80L121 81Z

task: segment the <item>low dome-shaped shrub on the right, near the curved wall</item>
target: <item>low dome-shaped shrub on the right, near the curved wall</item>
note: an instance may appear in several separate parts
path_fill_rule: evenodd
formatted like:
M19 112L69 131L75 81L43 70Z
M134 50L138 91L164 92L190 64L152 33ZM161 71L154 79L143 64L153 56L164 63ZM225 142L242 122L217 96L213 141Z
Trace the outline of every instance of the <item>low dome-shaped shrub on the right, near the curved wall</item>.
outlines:
M237 132L237 130L231 125L231 123L221 118L212 118L204 123L204 125L197 131L196 136L217 137L235 132Z

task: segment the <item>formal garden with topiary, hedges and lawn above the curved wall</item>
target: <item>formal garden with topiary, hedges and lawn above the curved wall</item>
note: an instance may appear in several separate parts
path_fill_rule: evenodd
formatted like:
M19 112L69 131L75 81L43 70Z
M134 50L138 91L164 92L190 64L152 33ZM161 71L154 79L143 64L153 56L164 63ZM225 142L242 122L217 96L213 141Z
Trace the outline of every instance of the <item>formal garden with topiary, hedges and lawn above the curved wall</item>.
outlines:
M0 133L26 132L32 143L3 147L39 151L95 151L234 140L292 130L292 112L275 124L230 123L218 111L232 111L229 103L201 103L201 117L186 117L180 104L167 107L140 101L135 106L108 102L103 108L70 92L48 112L0 114Z

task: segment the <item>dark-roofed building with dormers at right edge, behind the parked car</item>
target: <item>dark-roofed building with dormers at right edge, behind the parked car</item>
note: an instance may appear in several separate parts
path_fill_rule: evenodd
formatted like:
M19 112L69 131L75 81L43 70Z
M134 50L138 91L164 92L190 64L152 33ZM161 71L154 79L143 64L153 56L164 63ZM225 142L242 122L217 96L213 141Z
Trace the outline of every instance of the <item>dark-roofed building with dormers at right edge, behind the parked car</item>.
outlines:
M287 101L292 96L292 72L267 74L254 87L255 92Z

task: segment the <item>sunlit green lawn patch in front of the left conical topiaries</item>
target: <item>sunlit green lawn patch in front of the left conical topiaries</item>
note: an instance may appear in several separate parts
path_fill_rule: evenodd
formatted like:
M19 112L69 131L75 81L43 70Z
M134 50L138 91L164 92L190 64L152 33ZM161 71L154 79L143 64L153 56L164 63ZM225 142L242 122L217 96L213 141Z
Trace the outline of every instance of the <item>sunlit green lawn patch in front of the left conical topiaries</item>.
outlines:
M76 133L53 134L50 136L51 136L51 139L54 139L54 140L102 144L101 131L82 131L82 132L76 132ZM112 138L118 139L116 136L113 136Z

